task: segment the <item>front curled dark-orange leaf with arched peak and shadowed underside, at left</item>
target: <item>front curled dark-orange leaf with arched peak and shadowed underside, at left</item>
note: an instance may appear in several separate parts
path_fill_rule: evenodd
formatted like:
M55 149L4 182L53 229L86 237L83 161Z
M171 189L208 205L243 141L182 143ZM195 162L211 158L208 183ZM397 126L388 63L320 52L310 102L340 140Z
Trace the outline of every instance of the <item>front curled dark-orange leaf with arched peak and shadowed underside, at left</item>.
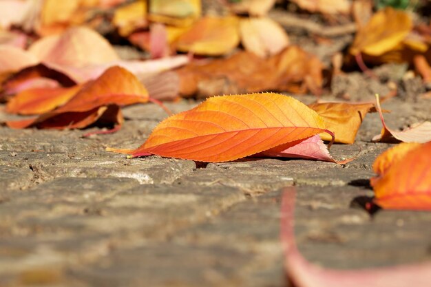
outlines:
M134 74L122 67L110 67L83 88L65 105L37 118L9 121L12 128L38 127L50 129L82 129L103 119L109 123L121 123L119 106L147 103L147 89Z

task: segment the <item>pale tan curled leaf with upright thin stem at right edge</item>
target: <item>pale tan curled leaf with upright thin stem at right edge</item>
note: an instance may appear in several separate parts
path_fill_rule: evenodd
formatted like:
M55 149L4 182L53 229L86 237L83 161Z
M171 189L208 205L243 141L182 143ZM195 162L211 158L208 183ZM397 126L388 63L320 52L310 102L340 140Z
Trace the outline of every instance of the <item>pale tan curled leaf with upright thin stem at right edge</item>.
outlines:
M379 95L376 94L377 100L377 111L381 119L383 128L381 134L374 136L372 140L377 142L429 142L431 141L431 122L425 121L423 123L417 123L412 125L408 129L403 131L394 131L390 129L383 119L383 113L380 107Z

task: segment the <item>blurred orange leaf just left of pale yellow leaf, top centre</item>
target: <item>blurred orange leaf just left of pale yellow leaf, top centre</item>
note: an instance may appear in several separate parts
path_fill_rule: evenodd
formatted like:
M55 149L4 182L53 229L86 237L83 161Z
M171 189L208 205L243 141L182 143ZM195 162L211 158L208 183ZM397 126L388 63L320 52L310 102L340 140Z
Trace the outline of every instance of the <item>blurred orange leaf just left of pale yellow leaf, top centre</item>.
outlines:
M175 47L181 52L220 56L231 52L240 43L237 17L203 17L180 35Z

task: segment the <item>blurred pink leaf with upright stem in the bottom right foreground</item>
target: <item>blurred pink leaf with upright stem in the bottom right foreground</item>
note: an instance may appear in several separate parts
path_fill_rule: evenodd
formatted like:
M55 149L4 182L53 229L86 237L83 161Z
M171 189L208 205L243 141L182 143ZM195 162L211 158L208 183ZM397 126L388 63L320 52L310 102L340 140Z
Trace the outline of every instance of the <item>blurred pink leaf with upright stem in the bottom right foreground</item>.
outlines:
M297 287L428 287L431 263L399 265L361 270L322 268L308 262L299 253L293 226L295 224L295 188L284 189L281 208L281 239L286 273Z

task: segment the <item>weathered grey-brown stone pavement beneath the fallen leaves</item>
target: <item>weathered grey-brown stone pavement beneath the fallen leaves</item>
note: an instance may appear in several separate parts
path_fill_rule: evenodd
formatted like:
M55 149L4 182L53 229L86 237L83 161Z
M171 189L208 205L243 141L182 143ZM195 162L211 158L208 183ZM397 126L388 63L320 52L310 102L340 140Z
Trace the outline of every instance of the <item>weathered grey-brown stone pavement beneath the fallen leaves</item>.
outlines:
M401 128L429 120L431 100L392 99L383 109L393 111L388 125ZM431 260L431 213L361 207L372 196L371 164L390 147L370 142L381 129L377 114L366 116L355 145L331 148L338 159L359 153L345 166L126 159L105 147L137 147L165 114L152 104L124 114L118 133L91 138L0 127L0 286L289 286L279 226L282 188L291 185L297 243L311 262Z

